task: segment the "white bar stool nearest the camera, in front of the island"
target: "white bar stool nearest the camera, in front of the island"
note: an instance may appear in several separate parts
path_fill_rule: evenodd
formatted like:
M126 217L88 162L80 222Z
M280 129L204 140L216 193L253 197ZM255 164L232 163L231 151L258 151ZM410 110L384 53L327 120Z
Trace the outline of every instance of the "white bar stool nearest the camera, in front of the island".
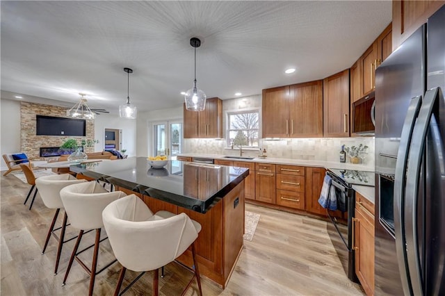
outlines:
M128 195L108 204L102 212L102 219L111 248L122 265L114 295L120 295L120 288L127 269L142 274L154 270L153 295L158 295L159 268L175 261L191 246L193 272L191 281L183 291L186 293L196 278L202 295L200 272L195 254L195 240L201 225L185 213L175 215L167 211L153 214L148 206L136 195ZM185 265L181 265L185 266ZM134 279L124 293L141 276ZM122 294L121 293L121 294Z

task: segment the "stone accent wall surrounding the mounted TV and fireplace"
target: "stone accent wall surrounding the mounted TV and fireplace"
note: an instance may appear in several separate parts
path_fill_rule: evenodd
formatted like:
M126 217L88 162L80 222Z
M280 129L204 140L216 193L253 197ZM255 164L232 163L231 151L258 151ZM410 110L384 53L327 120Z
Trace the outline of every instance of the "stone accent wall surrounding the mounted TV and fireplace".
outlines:
M26 153L29 158L39 157L40 147L60 147L65 140L74 138L79 142L86 139L95 138L95 121L86 120L86 136L74 137L72 135L35 135L36 121L35 115L67 117L66 108L29 103L26 101L20 102L20 151ZM86 152L93 152L94 147L85 147Z

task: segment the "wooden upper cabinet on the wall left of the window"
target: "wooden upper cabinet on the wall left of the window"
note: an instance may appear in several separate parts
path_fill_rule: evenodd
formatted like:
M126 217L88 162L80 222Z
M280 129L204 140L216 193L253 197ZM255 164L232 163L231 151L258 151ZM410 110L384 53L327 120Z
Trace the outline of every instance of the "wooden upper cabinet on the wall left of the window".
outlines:
M204 111L188 111L184 104L184 138L223 138L223 101L206 100Z

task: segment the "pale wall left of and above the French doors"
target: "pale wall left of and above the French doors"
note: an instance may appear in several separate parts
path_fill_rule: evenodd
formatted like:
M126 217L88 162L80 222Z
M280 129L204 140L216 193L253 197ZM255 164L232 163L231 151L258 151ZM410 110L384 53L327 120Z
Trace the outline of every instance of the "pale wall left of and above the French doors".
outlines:
M168 108L163 110L153 110L144 113L138 113L138 126L136 139L137 156L151 156L153 152L152 142L152 123L166 120L183 120L184 107Z

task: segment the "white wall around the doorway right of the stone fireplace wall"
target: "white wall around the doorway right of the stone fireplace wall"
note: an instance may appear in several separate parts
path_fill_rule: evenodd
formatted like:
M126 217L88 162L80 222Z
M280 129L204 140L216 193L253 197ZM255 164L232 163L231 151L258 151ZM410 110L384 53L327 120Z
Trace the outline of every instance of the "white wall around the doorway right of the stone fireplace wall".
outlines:
M122 131L121 149L127 149L125 154L136 156L136 120L120 118L119 115L101 113L95 117L95 151L104 150L105 129L120 129Z

